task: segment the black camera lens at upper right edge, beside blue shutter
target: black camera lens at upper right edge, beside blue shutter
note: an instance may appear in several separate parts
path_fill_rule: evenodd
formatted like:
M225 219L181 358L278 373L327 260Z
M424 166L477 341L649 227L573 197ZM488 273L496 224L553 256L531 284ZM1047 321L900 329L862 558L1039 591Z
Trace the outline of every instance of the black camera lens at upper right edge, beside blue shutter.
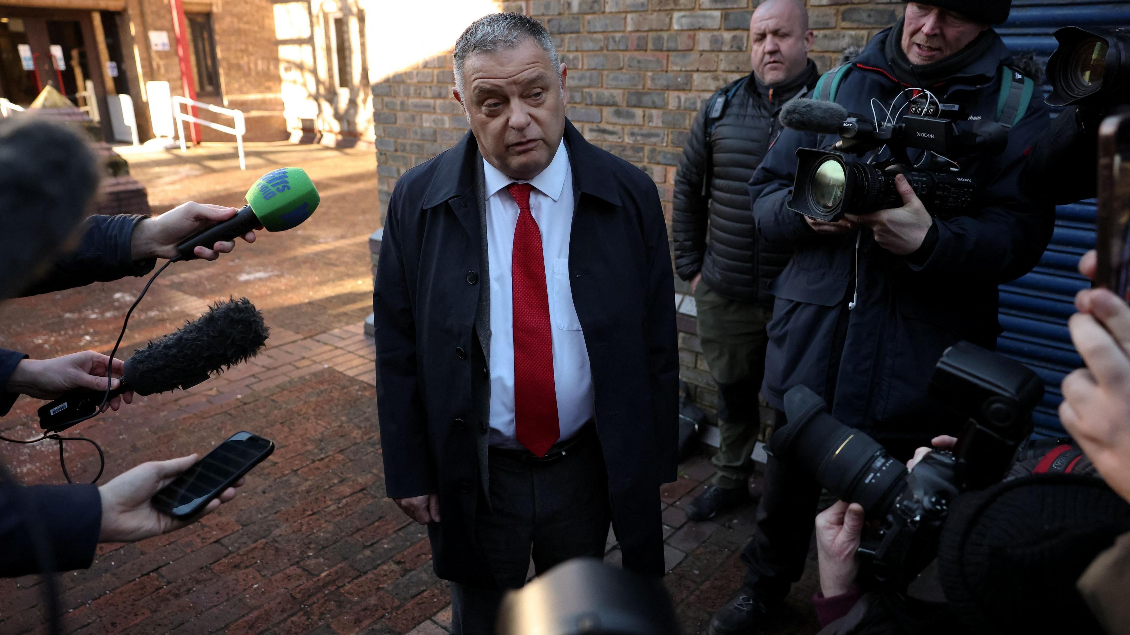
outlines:
M1130 29L1066 26L1055 40L1049 105L1113 105L1130 97Z

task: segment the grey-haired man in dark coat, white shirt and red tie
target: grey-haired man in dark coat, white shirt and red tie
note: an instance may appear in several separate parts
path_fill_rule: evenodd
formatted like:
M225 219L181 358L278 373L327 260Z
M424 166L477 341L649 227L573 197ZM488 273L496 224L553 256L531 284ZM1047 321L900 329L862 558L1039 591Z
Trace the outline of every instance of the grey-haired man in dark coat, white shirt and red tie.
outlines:
M609 519L624 567L663 574L678 360L655 184L565 119L545 28L484 17L454 59L471 130L389 202L376 388L388 495L479 634L531 549L539 573L602 557Z

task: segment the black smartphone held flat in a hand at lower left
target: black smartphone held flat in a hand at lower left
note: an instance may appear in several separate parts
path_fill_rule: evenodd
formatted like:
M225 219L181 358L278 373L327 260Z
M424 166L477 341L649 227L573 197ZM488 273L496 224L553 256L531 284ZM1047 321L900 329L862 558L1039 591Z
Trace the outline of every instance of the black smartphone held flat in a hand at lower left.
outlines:
M153 506L176 519L191 517L275 452L275 444L237 432L153 496Z

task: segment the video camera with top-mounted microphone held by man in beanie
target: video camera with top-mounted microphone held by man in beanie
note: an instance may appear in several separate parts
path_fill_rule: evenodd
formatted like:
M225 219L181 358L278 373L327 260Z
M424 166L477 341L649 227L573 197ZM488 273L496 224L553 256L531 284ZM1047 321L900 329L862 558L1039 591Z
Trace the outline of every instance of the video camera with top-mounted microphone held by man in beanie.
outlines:
M962 129L957 121L966 119L965 108L940 103L927 93L911 99L907 114L896 123L879 124L862 115L847 116L846 111L844 116L840 140L831 150L797 150L789 209L835 221L844 214L901 207L895 175L902 174L931 214L962 216L973 207L977 189L973 180L957 175L951 159L1000 154L1008 143L1008 129L1000 123L979 122L973 129ZM884 146L889 150L887 158L876 163L859 158ZM922 150L918 160L911 162L910 148Z

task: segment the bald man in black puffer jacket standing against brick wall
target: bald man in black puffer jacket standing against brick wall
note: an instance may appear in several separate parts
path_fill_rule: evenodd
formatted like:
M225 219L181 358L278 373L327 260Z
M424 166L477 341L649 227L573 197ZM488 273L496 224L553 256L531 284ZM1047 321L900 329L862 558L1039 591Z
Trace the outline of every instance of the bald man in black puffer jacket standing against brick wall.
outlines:
M675 268L695 293L698 337L719 389L721 430L714 479L687 507L693 520L712 517L749 496L765 324L773 316L767 287L792 249L758 241L747 183L781 132L781 106L819 78L808 59L808 14L797 0L762 3L750 19L749 38L754 71L703 105L675 179Z

